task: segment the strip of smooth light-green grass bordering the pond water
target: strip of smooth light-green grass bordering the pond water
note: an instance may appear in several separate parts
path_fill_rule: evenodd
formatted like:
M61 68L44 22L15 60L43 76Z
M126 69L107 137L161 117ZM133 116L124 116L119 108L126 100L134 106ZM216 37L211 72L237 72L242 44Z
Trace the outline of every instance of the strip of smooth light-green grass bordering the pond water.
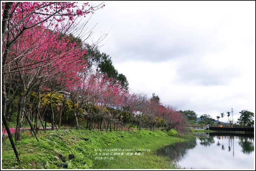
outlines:
M169 158L157 156L156 151L165 146L184 141L187 140L179 137L159 136L116 143L108 146L108 148L130 149L133 151L126 151L124 155L116 156L113 160L98 160L95 169L180 169L181 167ZM143 155L134 155L135 149L143 152ZM131 153L133 155L128 155Z

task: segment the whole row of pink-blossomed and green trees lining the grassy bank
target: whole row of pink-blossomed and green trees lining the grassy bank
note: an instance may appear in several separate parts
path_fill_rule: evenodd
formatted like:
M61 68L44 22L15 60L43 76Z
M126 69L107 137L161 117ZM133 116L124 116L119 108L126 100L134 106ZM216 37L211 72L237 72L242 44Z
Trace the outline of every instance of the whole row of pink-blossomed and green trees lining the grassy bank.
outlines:
M125 124L129 130L137 124L139 130L186 131L183 113L163 106L155 94L147 98L129 89L111 57L98 50L106 34L86 43L92 31L86 29L88 20L79 18L104 4L5 2L2 7L2 117L7 128L15 116L15 141L27 123L36 137L45 118L52 129L61 120L79 129L85 120L89 130L112 131Z

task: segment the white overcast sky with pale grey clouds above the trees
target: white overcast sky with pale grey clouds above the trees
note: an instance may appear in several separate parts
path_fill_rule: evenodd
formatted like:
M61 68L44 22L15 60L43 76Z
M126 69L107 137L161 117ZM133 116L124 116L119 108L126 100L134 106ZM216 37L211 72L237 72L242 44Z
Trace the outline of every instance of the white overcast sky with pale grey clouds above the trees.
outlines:
M95 2L96 4L100 2ZM198 117L255 114L255 1L107 1L88 28L107 33L130 88ZM222 121L222 119L220 119Z

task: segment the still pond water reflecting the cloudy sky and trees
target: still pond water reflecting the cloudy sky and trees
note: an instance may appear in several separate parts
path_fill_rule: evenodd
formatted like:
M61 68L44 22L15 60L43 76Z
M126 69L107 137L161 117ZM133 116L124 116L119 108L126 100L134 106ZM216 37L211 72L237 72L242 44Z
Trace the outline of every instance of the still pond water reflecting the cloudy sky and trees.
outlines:
M195 134L194 134L195 135ZM254 169L254 134L197 133L157 151L186 169Z

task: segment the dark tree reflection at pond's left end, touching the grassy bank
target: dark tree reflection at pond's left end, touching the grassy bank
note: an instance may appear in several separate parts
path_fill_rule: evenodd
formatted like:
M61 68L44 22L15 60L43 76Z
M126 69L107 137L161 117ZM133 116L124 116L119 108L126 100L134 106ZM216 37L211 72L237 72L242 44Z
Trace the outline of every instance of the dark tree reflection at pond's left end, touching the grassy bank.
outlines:
M172 160L181 160L186 155L187 151L195 148L196 145L196 138L193 138L188 142L166 146L163 149L158 150L157 154L169 157Z

